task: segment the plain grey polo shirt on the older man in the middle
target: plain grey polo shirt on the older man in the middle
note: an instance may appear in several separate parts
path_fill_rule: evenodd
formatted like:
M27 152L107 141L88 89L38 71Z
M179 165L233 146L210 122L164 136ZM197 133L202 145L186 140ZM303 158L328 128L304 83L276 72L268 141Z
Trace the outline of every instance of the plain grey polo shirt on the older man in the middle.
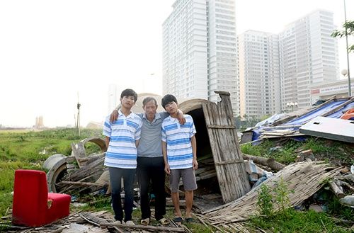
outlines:
M169 113L156 113L154 120L150 123L145 113L138 113L142 118L142 132L140 134L139 146L137 147L138 157L162 157L161 149L161 124L169 116Z

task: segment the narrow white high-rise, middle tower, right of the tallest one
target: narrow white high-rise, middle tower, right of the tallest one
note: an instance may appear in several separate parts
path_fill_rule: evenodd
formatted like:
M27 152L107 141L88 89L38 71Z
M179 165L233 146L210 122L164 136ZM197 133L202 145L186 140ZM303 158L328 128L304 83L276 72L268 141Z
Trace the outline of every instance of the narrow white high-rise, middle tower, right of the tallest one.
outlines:
M248 30L238 42L241 117L280 113L278 35Z

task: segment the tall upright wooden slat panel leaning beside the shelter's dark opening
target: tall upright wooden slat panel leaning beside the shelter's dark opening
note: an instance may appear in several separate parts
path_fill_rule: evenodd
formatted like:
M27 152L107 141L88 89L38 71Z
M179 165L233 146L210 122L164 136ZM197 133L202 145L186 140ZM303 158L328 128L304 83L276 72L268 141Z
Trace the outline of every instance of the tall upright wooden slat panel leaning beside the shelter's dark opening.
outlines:
M229 163L229 161L243 161L243 159L234 125L229 93L218 93L222 101L217 104L212 102L202 103L202 110L210 139L212 156L215 164L219 164L215 166L215 171L222 200L227 203L248 193L251 187L246 174L246 165L244 163ZM228 125L228 127L208 127L208 125Z

